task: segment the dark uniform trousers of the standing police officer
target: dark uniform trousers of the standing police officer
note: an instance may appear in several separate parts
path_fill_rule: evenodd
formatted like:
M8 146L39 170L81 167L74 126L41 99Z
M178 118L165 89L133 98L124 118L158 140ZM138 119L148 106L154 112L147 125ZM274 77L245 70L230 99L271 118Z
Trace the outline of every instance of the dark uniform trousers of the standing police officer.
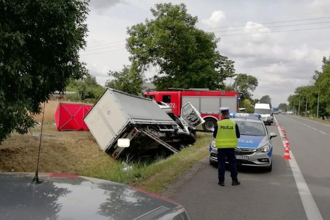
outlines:
M225 181L225 164L226 157L229 162L230 176L233 181L238 181L237 179L237 169L236 169L236 158L235 158L235 148L218 148L218 178L219 181Z

